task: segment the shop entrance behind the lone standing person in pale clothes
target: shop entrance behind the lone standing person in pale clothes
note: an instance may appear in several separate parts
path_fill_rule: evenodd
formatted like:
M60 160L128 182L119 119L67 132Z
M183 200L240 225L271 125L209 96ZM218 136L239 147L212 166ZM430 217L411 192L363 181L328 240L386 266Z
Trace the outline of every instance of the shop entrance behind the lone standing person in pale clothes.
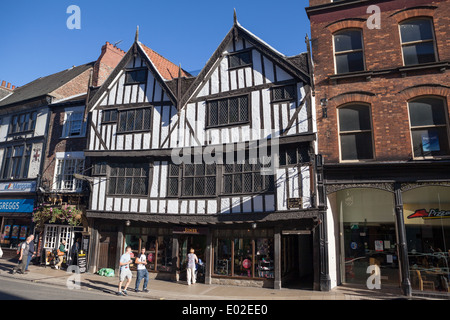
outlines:
M180 280L186 281L186 264L187 254L189 250L193 248L195 254L199 259L199 265L197 265L197 282L205 283L205 249L206 249L206 235L180 235L178 238L179 251L178 256L180 260Z

